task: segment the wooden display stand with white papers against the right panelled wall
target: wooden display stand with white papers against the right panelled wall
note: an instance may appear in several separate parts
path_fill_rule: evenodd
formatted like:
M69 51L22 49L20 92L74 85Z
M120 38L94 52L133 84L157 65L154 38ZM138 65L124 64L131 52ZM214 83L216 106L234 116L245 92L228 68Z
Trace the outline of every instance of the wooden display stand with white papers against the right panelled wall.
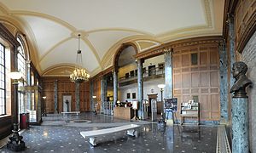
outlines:
M185 117L196 118L196 123L200 123L200 105L199 103L194 103L189 100L189 103L182 103L180 108L180 123L183 125L183 120Z

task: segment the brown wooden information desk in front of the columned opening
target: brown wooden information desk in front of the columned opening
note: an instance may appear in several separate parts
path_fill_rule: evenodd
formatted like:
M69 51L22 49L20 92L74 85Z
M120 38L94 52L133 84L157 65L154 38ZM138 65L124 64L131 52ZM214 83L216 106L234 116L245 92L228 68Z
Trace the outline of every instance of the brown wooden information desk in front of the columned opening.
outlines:
M131 120L134 116L133 110L131 107L114 107L113 108L113 117L125 120Z

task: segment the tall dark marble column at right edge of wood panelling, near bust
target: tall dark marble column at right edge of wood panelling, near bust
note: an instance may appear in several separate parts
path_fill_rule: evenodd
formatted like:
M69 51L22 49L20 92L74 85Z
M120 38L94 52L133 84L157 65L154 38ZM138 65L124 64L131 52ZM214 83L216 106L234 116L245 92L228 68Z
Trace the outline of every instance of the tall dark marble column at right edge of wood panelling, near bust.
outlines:
M227 124L229 122L228 99L228 58L225 42L218 44L219 54L219 90L220 90L220 123Z

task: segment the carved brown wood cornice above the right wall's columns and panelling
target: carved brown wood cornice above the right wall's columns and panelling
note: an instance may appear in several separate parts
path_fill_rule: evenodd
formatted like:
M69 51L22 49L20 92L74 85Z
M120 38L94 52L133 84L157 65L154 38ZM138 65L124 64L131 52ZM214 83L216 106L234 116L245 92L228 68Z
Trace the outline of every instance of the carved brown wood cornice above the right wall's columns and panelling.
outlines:
M175 48L189 47L189 46L198 45L198 44L218 43L221 40L223 40L221 36L212 36L212 37L195 37L195 38L178 40L174 42L167 42L158 47L150 48L147 51L136 54L134 57L136 59L149 59L154 56L164 54L166 49L171 50Z

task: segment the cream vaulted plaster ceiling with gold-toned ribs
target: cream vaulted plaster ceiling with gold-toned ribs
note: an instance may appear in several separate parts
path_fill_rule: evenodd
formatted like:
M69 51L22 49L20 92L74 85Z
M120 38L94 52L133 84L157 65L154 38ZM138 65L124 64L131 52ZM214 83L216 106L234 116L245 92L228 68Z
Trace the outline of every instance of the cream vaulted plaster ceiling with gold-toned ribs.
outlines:
M223 12L224 0L0 0L0 22L19 24L43 76L68 75L79 33L83 65L94 76L125 42L141 52L150 43L221 35Z

